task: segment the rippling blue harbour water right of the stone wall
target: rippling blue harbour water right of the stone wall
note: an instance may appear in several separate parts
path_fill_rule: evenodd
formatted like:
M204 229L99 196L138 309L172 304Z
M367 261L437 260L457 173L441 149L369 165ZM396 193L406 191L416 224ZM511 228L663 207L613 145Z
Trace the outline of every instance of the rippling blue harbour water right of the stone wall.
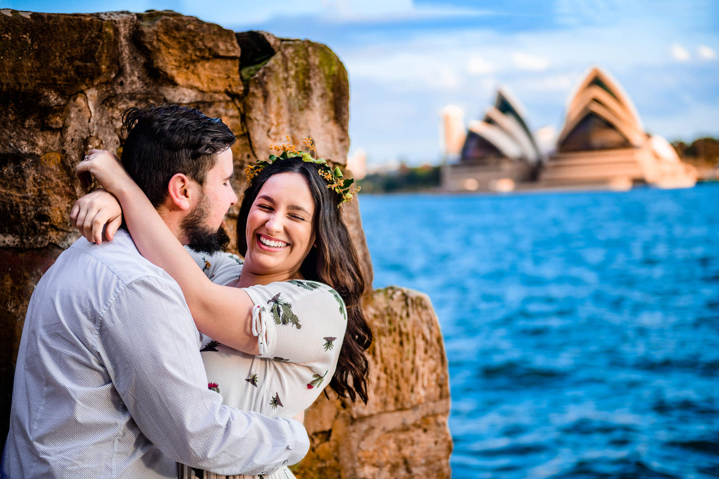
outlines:
M719 477L719 185L360 206L439 316L454 478Z

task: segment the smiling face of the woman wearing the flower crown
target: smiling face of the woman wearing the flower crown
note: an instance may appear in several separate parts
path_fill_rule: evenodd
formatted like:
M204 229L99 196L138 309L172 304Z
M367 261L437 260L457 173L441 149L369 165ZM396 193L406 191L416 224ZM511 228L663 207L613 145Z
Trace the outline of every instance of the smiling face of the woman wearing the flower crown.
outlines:
M272 175L249 208L245 267L255 274L296 274L315 241L315 205L305 177Z

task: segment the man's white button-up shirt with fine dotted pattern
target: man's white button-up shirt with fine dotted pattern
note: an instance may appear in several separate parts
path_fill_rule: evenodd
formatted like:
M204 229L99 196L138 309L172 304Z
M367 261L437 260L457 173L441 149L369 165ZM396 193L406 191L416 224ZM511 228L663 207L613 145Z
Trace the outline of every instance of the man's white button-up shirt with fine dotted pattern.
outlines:
M298 462L301 423L239 411L208 389L179 285L120 230L60 254L32 294L3 478L175 478Z

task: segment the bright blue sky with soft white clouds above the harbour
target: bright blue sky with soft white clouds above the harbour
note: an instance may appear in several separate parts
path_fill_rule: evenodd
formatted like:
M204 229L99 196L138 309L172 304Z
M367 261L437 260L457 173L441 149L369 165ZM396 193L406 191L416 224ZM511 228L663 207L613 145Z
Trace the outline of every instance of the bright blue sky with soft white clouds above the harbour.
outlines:
M370 164L439 162L439 112L480 118L508 85L532 129L560 129L590 65L608 70L647 131L719 136L719 1L0 1L32 11L173 9L237 31L329 45L350 81L352 149Z

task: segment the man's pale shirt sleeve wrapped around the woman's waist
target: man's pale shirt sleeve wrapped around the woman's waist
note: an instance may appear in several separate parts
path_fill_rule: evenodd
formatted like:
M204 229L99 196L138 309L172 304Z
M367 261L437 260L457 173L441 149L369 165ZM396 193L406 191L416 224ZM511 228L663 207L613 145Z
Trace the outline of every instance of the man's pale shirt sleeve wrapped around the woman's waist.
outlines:
M198 332L176 284L150 276L127 284L101 320L98 350L137 427L172 460L257 475L308 451L300 422L224 406L208 389Z

